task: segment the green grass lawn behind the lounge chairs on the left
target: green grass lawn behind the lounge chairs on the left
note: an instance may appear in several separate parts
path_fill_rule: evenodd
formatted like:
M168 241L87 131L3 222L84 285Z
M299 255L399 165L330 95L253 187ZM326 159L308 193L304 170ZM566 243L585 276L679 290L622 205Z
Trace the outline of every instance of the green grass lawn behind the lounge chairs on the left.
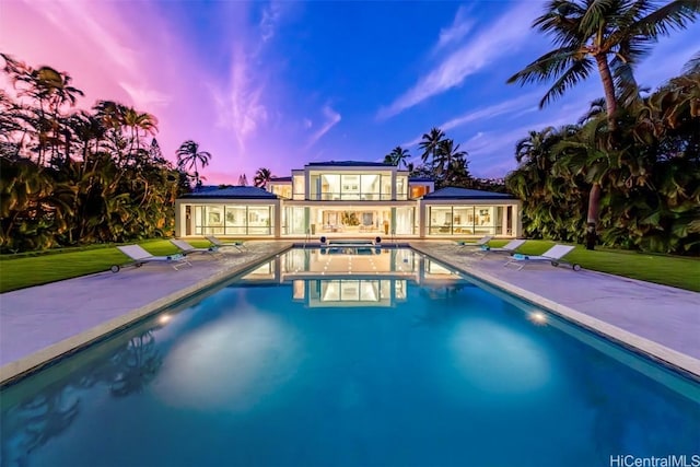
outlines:
M207 241L190 243L202 247L210 245ZM140 245L153 255L171 255L178 250L167 240L144 241ZM0 258L0 293L107 271L112 265L130 262L116 246L109 245L70 248L62 253L50 250L42 255L1 255Z

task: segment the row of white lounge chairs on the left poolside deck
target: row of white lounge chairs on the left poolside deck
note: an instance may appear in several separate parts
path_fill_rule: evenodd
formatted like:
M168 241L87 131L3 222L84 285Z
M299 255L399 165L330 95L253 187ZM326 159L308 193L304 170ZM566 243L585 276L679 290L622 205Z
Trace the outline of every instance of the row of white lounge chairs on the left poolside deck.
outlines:
M202 253L202 254L208 254L212 256L218 256L222 253L222 250L225 250L228 248L233 248L238 253L244 253L247 250L247 247L243 244L243 242L223 242L214 236L208 236L207 240L212 245L205 248L198 248L185 242L184 240L172 238L171 243L175 245L177 248L179 248L179 253L176 253L174 255L163 255L163 256L152 255L145 249L143 249L143 247L141 247L140 245L122 245L122 246L117 246L117 248L121 253L127 255L129 258L131 258L132 265L136 266L137 268L140 268L141 266L148 262L161 262L161 264L168 264L175 270L178 270L183 266L191 267L192 265L187 259L187 255L192 253ZM109 268L112 272L118 272L120 269L121 269L121 266L119 265L113 265Z

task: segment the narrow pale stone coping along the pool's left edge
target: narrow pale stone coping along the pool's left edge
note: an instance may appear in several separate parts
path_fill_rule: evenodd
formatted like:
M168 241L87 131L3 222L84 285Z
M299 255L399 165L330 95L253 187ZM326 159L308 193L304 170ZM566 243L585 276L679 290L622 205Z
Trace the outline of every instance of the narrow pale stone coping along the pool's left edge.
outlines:
M224 282L226 279L244 272L253 265L264 261L269 258L273 258L277 255L292 248L291 242L284 242L276 246L270 252L266 252L260 256L253 256L252 260L232 266L231 268L223 269L214 272L211 276L202 279L194 284L180 289L176 292L162 296L152 301L145 305L142 305L136 310L131 310L122 315L112 318L105 323L94 326L80 334L71 336L67 339L62 339L56 343L37 350L26 357L15 360L10 363L5 363L0 366L0 388L13 384L15 381L22 380L40 369L50 365L54 362L60 361L60 359L68 357L83 348L86 348L102 339L105 339L118 332L119 330L137 323L151 315L158 314L164 308L175 305L176 303L184 302L189 297L197 295L198 293L207 290L211 287L215 287L218 283Z

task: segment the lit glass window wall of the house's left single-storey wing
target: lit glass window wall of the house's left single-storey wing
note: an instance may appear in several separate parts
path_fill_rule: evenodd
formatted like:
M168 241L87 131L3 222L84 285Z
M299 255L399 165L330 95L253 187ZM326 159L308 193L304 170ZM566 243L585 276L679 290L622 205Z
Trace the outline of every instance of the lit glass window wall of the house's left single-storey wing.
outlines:
M195 235L271 235L273 207L195 206Z

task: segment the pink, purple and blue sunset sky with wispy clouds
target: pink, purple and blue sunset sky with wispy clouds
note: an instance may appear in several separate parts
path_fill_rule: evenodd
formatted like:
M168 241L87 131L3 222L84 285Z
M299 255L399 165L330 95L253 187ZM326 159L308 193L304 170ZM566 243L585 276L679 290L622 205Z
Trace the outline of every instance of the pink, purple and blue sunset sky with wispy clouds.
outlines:
M195 140L208 184L308 162L420 162L432 127L478 177L516 167L529 130L575 122L603 95L592 77L545 109L546 85L506 84L552 48L539 0L2 0L0 51L68 72L78 105L118 101L159 120L165 156ZM662 38L637 69L655 89L700 50L700 24Z

